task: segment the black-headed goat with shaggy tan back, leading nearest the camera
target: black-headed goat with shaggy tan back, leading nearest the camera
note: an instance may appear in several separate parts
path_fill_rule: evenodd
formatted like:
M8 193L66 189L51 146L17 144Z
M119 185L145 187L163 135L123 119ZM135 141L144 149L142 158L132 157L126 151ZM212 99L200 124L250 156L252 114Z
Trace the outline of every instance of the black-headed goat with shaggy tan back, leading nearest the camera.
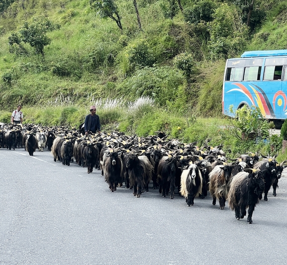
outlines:
M247 222L252 224L252 214L265 185L260 170L245 170L249 173L239 172L232 179L228 193L228 205L235 211L237 220L244 218L248 208Z

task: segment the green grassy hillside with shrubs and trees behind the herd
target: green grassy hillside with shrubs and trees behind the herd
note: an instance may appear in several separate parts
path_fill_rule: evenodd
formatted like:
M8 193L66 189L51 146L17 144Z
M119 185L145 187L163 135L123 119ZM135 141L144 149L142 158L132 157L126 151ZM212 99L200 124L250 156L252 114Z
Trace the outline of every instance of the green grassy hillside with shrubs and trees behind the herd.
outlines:
M257 143L231 132L236 121L222 117L221 91L227 58L287 47L286 6L287 0L4 0L0 121L9 122L20 103L25 123L78 127L96 104L109 130L165 131L186 142L224 144L233 156L278 152L279 137L266 133L271 124L260 132L248 128L249 120L243 124ZM259 125L258 116L250 119Z

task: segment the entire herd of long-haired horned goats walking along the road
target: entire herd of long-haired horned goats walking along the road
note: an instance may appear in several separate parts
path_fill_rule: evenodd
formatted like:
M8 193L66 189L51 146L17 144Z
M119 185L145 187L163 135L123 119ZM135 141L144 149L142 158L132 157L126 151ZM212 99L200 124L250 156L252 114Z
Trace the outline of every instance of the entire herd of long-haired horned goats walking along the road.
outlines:
M235 217L252 223L256 204L273 187L273 196L286 161L278 163L273 157L254 153L242 154L228 162L220 146L184 144L178 139L167 139L165 133L148 137L127 136L124 133L99 133L85 135L81 130L66 127L17 125L0 123L0 148L24 147L30 156L36 149L51 151L54 161L63 165L76 162L86 167L88 173L101 170L111 192L123 183L133 189L139 198L153 189L174 199L175 192L184 196L188 206L194 198L204 199L209 191L212 204L219 201L220 209L229 207Z

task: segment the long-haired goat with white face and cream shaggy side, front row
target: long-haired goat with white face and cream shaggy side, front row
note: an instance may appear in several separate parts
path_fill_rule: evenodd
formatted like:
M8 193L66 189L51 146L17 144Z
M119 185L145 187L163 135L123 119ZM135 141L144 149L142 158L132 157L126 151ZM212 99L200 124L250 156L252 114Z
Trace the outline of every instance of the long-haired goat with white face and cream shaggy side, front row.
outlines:
M198 162L190 162L181 175L180 193L186 198L189 206L194 204L194 198L202 192L202 176L198 168Z

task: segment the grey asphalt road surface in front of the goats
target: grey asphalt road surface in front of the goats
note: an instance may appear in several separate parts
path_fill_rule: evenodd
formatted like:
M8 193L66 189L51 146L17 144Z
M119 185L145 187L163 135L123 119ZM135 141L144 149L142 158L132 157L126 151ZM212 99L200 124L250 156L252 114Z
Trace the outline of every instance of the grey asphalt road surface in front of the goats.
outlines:
M100 172L50 152L0 149L0 265L283 265L287 172L253 224L212 199L109 192Z

